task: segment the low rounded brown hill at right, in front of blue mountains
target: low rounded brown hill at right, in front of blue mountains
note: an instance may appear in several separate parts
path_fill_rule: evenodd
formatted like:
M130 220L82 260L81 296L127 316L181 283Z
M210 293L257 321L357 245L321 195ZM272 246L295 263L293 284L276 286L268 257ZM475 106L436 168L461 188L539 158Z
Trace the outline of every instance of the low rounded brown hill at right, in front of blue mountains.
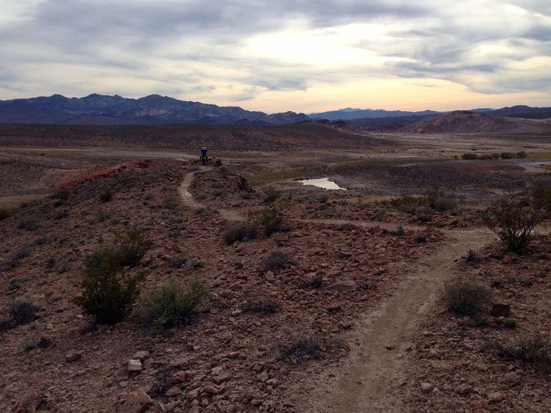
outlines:
M401 130L414 134L551 134L551 122L459 110L427 116Z

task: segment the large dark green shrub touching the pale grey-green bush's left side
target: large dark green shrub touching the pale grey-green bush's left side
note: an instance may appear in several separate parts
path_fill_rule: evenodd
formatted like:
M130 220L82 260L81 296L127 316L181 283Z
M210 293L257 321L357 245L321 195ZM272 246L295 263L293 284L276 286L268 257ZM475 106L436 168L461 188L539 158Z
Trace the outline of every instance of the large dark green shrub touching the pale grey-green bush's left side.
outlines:
M81 295L72 301L93 324L115 324L132 310L140 293L145 272L130 275L116 262L103 262L85 272Z

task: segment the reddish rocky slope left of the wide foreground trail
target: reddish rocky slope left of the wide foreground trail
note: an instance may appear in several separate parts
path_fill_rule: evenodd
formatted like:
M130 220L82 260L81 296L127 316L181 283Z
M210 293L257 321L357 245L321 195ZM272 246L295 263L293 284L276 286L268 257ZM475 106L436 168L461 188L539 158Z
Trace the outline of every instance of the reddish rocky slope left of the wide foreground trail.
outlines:
M0 221L0 305L28 298L40 308L33 322L0 333L1 410L296 412L298 378L307 388L311 374L346 357L357 317L384 299L426 248L445 240L431 230L417 237L419 230L391 212L387 226L403 224L404 232L362 224L375 213L368 208L358 224L337 223L291 199L283 232L227 245L228 222L217 209L254 217L269 206L265 193L250 191L231 169L199 171L190 190L205 207L190 208L178 186L196 169L176 161L118 164L65 182L67 196L25 204ZM98 198L106 188L110 202ZM318 201L335 217L356 208ZM109 246L112 231L130 229L154 243L136 268L148 273L144 290L197 278L212 293L206 313L170 330L133 319L90 328L71 302L83 258ZM264 258L275 249L289 262L269 271ZM315 341L302 363L283 357L293 337Z

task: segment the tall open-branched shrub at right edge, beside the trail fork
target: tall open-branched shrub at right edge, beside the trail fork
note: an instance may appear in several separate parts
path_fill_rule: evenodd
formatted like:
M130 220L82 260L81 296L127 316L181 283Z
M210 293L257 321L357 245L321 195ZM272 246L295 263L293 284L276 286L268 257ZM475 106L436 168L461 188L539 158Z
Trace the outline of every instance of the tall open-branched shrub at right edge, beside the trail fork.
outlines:
M528 195L503 199L492 204L484 222L508 251L522 253L534 227L551 218L551 189L538 186Z

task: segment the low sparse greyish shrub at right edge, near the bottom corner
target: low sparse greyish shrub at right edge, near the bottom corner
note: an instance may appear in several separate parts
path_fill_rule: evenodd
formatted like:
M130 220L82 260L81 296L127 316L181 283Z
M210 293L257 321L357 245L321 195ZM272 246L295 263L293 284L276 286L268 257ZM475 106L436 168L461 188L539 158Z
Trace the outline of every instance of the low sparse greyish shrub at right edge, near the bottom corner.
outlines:
M533 363L540 372L551 373L551 339L539 333L523 335L510 343L490 341L499 356L508 360Z

